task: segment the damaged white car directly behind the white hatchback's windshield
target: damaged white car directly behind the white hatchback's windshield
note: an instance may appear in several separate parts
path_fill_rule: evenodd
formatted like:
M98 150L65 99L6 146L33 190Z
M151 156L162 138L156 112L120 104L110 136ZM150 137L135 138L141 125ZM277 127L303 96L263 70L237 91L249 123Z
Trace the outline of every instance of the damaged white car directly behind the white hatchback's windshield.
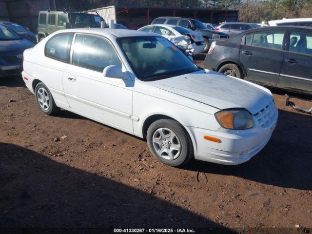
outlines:
M138 29L138 31L159 34L191 56L195 56L205 49L204 38L201 33L180 26L151 24Z

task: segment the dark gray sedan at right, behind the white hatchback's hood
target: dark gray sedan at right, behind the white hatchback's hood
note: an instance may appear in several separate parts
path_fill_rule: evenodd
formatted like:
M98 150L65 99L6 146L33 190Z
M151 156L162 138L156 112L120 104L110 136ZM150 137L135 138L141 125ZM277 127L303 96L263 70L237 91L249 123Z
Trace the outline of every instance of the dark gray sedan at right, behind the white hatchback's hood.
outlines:
M312 95L312 28L264 27L213 42L205 68Z

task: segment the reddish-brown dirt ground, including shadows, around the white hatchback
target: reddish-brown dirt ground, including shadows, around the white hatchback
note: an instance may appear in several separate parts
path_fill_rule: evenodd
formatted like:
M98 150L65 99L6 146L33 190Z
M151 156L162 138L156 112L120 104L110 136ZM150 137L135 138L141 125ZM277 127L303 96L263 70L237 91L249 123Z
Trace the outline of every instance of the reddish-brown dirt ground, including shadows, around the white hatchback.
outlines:
M278 124L258 155L173 168L142 139L67 111L45 116L20 77L1 78L0 227L311 233L312 116L272 92Z

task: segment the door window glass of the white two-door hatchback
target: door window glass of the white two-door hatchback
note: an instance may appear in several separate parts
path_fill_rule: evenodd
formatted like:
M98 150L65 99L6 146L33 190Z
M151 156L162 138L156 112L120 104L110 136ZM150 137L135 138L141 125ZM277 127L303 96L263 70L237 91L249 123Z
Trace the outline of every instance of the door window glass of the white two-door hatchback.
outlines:
M109 65L121 68L121 62L108 40L79 34L74 43L73 64L98 72L103 72Z

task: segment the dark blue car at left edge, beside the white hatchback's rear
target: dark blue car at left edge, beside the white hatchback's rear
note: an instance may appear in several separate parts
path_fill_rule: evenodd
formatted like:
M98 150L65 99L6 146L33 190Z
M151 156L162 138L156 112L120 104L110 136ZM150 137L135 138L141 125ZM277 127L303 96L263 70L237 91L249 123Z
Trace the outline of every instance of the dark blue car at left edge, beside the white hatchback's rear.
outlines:
M0 23L0 77L19 75L24 50L34 44Z

